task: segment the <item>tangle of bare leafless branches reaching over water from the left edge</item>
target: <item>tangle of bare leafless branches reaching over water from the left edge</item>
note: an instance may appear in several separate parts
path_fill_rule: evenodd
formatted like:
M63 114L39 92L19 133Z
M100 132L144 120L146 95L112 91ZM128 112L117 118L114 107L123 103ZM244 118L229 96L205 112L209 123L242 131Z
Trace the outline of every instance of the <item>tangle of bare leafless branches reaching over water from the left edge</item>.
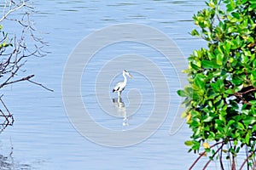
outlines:
M15 13L17 11L20 11L21 14L20 12L19 14ZM26 64L26 59L45 55L42 48L47 44L42 38L38 37L38 31L31 20L33 12L29 0L5 0L0 23L3 20L13 22L12 26L15 27L15 31L13 27L0 26L0 88L16 82L27 81L51 92L53 91L41 83L33 82L31 79L34 75L24 76L26 70L21 70L21 67L23 68ZM9 35L13 36L9 38ZM14 122L13 116L1 99L2 97L3 95L0 96L0 106L2 104L5 111L2 111L0 107L0 118L4 118L2 118L3 123L0 122L0 133L5 127L12 125Z

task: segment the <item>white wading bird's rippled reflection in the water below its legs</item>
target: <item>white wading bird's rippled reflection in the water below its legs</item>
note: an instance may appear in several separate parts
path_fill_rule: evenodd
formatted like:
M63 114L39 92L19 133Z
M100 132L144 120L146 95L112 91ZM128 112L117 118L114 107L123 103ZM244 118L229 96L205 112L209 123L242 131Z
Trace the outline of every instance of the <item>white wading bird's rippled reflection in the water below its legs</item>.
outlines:
M127 116L125 103L123 102L121 97L112 99L113 105L117 108L119 116L123 117L123 126L129 126L130 116Z

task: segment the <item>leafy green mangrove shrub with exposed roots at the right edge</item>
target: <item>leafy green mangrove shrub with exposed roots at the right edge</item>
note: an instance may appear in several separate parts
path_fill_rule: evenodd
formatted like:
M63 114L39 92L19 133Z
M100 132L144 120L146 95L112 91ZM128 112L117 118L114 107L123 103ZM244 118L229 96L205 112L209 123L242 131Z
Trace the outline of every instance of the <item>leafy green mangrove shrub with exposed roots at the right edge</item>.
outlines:
M220 169L256 167L256 1L209 0L194 15L191 35L207 41L188 58L183 117L193 131L190 149L218 160ZM245 151L244 151L245 150ZM239 153L242 158L237 160ZM240 157L239 157L240 158ZM226 160L225 162L223 160Z

